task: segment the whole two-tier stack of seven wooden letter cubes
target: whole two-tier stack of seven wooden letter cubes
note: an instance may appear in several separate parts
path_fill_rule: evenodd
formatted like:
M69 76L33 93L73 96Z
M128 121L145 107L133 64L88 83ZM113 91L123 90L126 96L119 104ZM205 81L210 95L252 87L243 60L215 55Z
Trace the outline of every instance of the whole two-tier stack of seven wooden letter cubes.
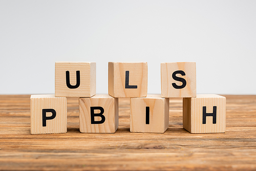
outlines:
M56 62L55 95L31 96L31 134L67 132L67 97L79 97L81 133L115 133L118 98L131 102L130 131L164 133L169 98L183 98L190 133L225 132L225 97L197 95L196 63L161 63L161 95L147 95L147 62L109 62L109 95L96 95L95 62Z

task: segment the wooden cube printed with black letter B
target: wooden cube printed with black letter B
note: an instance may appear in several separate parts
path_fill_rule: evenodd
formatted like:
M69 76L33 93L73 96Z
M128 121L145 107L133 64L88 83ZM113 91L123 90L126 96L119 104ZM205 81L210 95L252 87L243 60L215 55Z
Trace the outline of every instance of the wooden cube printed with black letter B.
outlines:
M95 95L79 98L81 133L115 133L118 128L118 98Z

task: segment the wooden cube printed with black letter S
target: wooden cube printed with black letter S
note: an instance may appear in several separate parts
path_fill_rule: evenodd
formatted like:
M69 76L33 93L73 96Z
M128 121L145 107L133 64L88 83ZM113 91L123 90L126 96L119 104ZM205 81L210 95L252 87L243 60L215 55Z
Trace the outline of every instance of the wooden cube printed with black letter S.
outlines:
M196 62L161 63L162 97L196 97Z

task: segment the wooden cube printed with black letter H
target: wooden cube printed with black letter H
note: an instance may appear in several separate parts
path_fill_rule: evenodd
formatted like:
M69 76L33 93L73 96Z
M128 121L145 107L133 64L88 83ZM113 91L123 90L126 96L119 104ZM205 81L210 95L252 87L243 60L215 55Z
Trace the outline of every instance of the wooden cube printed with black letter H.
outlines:
M183 127L190 133L225 133L226 98L215 94L183 98Z

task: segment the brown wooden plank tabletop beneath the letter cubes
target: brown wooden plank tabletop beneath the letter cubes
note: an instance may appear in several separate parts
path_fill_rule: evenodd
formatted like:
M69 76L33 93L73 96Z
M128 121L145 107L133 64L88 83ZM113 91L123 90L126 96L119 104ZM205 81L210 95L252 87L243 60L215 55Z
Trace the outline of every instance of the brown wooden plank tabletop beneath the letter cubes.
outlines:
M181 99L170 99L164 134L130 133L129 99L115 134L80 133L68 98L68 133L31 135L30 95L1 95L0 170L256 170L256 96L226 98L226 133L184 130Z

